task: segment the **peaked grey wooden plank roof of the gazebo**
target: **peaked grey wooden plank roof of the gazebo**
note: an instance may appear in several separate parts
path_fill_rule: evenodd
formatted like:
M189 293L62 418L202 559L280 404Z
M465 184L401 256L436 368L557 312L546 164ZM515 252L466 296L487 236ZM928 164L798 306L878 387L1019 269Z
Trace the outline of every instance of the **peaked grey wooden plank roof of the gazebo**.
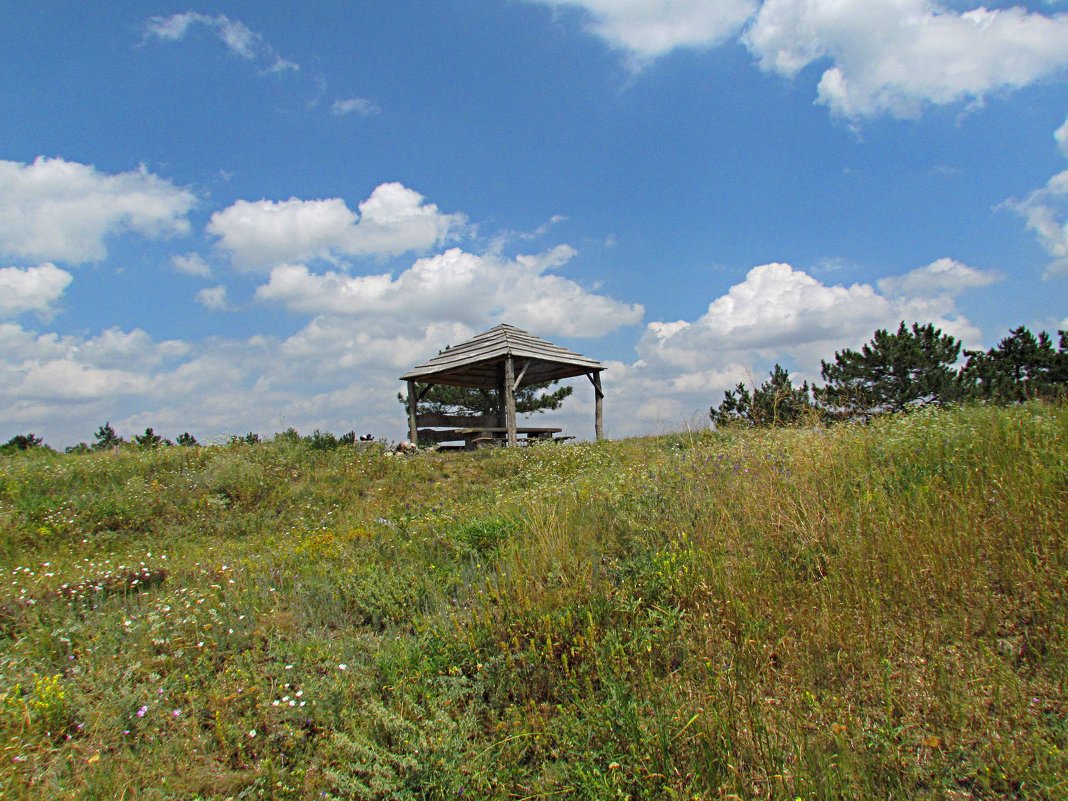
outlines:
M413 367L400 380L494 389L500 365L516 360L524 384L555 381L604 370L600 362L538 339L515 326L501 324Z

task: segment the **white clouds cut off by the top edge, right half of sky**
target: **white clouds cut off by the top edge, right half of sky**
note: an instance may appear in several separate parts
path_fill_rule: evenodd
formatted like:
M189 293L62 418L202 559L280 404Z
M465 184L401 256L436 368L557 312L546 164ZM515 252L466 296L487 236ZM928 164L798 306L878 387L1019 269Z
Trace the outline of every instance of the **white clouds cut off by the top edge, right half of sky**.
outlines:
M741 31L766 70L792 78L819 64L819 101L853 120L981 103L1068 67L1068 14L968 9L967 0L529 2L579 10L587 29L634 67L677 48L724 44Z

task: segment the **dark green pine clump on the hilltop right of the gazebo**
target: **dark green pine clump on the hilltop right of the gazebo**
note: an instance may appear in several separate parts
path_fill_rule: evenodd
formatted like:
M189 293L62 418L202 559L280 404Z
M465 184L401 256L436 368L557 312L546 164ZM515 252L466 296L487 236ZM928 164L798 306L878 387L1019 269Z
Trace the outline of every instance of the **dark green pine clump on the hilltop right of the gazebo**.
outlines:
M902 320L896 332L879 329L860 350L836 351L822 361L823 386L795 387L779 364L768 380L724 393L709 409L716 425L790 425L806 420L868 420L927 405L964 402L1016 404L1068 395L1068 332L1053 341L1025 326L989 350L964 350L933 325Z

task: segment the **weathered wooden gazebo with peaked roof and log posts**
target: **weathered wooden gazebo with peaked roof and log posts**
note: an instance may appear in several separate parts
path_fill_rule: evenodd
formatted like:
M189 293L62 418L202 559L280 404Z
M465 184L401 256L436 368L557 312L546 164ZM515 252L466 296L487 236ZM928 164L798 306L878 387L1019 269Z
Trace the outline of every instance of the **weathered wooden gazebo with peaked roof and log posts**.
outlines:
M594 386L596 398L595 431L603 436L600 362L580 356L567 348L546 342L515 326L499 325L460 345L442 351L425 364L420 364L400 376L408 382L408 433L412 442L419 441L419 402L434 384L470 387L497 390L504 399L498 420L489 421L506 434L507 443L518 443L516 425L516 390L523 384L555 381L562 378L586 376ZM422 393L415 383L425 383ZM559 430L559 429L556 429Z

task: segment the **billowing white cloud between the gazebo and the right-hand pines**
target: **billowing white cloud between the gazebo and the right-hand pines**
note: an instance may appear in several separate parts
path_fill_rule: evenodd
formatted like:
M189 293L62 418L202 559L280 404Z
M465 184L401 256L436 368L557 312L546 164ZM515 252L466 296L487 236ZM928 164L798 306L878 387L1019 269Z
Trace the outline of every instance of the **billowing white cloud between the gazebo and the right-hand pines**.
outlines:
M626 421L616 430L704 425L725 390L761 382L775 362L789 366L798 383L819 382L821 360L902 319L933 323L965 347L979 347L980 332L957 312L956 297L998 280L996 272L951 258L851 285L824 284L788 264L754 267L698 318L646 325L638 361L613 365L607 376Z

